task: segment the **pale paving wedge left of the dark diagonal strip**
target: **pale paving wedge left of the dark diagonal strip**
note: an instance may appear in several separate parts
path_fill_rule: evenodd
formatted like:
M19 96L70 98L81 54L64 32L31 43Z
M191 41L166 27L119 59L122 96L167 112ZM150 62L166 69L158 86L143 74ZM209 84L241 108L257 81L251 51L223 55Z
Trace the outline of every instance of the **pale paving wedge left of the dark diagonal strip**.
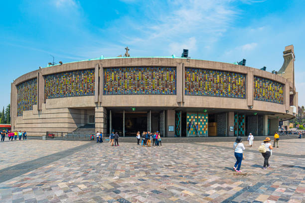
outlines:
M28 139L19 141L0 142L0 169L13 166L22 162L30 161L49 154L60 152L72 147L83 145L84 141L62 141L62 140L36 140Z

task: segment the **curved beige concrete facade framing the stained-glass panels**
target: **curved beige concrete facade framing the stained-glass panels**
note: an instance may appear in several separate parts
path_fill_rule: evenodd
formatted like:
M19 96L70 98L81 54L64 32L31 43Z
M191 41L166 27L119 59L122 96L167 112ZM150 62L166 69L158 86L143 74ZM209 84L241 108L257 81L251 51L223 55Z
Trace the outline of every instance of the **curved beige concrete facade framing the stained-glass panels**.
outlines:
M286 53L287 54L287 53ZM285 58L285 57L284 57ZM291 62L291 60L290 60ZM286 62L285 62L286 63ZM175 67L176 68L176 94L175 95L103 95L104 68L111 67ZM283 65L284 66L284 65ZM186 96L184 95L184 69L199 68L242 73L246 75L246 98L234 99L225 97ZM44 98L44 76L75 71L95 70L94 96L66 97L57 99ZM286 74L286 73L285 73ZM288 72L287 72L288 74ZM14 130L26 130L28 135L40 136L46 131L71 132L86 124L88 112L95 116L96 131L106 133L111 125L110 110L130 110L131 107L145 109L146 111L165 110L165 136L174 136L168 131L168 125L175 125L175 111L202 111L207 113L226 113L225 136L234 136L230 126L234 126L234 112L241 111L248 115L254 112L264 116L264 135L267 135L268 118L272 118L272 130L277 130L279 120L288 120L295 117L291 103L298 106L298 93L296 93L294 80L291 75L276 75L259 69L221 62L193 60L185 58L112 58L89 60L63 65L41 68L24 74L11 84L11 126ZM254 100L253 77L258 76L284 85L284 103L263 102ZM19 84L37 78L37 104L32 110L23 111L17 116L17 89ZM290 101L290 94L296 96ZM145 102L143 102L145 101ZM298 107L297 107L298 109ZM109 120L110 119L110 120ZM110 122L110 123L108 123ZM154 124L156 126L157 124ZM224 130L222 130L224 133Z

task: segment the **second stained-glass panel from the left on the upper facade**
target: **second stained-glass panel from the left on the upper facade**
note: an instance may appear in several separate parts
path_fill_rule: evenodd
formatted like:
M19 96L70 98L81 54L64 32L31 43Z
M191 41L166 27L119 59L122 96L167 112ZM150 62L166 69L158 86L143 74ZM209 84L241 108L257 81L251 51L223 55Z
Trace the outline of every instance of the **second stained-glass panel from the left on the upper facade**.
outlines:
M93 95L94 69L69 71L44 77L44 99Z

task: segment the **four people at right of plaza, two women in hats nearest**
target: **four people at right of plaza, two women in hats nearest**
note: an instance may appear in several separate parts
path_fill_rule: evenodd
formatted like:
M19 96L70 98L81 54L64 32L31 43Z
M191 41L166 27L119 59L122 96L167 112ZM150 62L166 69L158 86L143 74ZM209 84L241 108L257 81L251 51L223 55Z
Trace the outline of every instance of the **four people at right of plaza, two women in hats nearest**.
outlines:
M254 140L254 136L252 135L252 133L250 133L248 136L249 147L252 147L253 140ZM272 155L273 147L277 146L277 148L279 148L279 140L280 140L280 135L278 132L276 132L274 134L273 146L270 143L271 139L269 137L266 137L266 139L263 141L263 143L261 143L261 145L259 147L259 152L262 153L262 156L264 157L263 169L267 169L268 167L270 167L269 158ZM245 156L243 153L243 151L245 150L245 146L242 143L242 137L238 136L236 138L235 143L233 144L233 149L234 149L234 156L236 158L236 163L235 163L233 169L236 172L242 172L240 170L240 167L241 167L242 160L245 159Z

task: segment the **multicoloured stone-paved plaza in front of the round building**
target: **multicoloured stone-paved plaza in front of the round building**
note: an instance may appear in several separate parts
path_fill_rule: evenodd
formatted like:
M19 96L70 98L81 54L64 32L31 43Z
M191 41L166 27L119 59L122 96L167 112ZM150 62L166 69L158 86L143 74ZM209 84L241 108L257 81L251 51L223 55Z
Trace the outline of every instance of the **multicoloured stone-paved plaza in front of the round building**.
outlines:
M4 142L0 180L14 167L20 175L0 183L0 202L305 202L305 139L281 140L268 170L262 169L260 141L252 148L244 144L243 172L236 173L233 143L227 142L150 148L136 143L111 147L108 142ZM51 150L56 153L45 154Z

